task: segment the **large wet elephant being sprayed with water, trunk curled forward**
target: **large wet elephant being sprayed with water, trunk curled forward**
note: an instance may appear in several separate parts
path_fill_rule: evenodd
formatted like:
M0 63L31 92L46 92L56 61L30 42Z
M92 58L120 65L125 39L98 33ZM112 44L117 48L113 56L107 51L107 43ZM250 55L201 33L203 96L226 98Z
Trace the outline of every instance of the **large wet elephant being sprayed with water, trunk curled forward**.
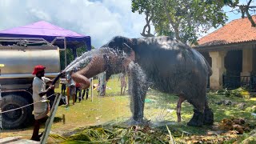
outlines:
M167 36L116 36L100 49L102 52L94 54L89 64L72 74L72 78L89 87L88 78L103 71L106 71L106 79L112 74L128 74L130 110L134 122L143 122L146 92L150 87L166 94L178 95L178 121L181 120L182 102L187 100L194 106L188 126L213 124L214 113L206 98L206 86L212 70L197 50Z

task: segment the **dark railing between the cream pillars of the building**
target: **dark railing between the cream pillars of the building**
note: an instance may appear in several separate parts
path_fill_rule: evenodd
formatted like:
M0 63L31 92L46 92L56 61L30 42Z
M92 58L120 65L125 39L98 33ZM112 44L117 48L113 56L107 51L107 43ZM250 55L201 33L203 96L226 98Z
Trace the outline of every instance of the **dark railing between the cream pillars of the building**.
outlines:
M222 86L227 89L246 87L250 91L256 90L256 76L230 76L222 75Z

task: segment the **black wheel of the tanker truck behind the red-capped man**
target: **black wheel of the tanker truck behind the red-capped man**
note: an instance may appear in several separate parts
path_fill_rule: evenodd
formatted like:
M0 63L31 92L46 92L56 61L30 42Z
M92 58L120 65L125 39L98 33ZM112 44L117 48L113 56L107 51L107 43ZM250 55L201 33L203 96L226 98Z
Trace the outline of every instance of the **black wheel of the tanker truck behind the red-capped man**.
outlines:
M16 109L21 106L28 105L29 102L25 98L15 94L9 94L2 98L2 112L6 110ZM18 129L27 126L31 122L32 109L31 106L26 106L22 109L10 111L2 114L2 128Z

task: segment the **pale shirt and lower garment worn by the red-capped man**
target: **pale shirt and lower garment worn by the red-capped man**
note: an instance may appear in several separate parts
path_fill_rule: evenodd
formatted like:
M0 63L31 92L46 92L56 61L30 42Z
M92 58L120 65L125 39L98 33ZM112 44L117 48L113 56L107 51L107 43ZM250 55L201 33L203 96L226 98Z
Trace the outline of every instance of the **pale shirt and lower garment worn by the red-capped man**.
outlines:
M42 91L46 90L46 82L49 82L49 81L50 81L49 78L42 77L42 79L40 79L38 77L34 77L33 101L37 102L34 104L34 118L35 119L39 119L38 117L40 117L40 114L44 114L44 113L46 113L46 110L48 110L48 103L38 102L38 101L41 101L42 99L44 99L46 97L46 95L40 97L39 94L42 93Z

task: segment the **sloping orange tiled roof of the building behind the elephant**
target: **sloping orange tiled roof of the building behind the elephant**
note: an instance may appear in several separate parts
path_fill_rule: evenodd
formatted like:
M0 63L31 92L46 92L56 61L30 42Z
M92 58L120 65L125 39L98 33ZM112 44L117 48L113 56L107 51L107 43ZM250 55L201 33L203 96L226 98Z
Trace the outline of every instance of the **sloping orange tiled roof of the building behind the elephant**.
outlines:
M254 22L256 15L253 16ZM239 18L227 23L218 30L198 40L198 46L216 46L256 40L256 27L252 27L248 18Z

